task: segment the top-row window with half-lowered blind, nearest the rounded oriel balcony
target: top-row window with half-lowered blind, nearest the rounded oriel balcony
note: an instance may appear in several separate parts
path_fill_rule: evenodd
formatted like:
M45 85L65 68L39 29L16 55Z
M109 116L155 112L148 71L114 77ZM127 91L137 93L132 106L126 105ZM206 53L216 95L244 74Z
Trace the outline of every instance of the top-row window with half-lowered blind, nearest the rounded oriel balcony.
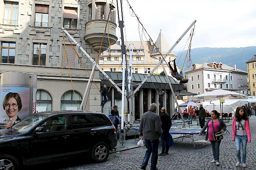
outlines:
M77 8L64 8L64 28L76 29L77 25Z

